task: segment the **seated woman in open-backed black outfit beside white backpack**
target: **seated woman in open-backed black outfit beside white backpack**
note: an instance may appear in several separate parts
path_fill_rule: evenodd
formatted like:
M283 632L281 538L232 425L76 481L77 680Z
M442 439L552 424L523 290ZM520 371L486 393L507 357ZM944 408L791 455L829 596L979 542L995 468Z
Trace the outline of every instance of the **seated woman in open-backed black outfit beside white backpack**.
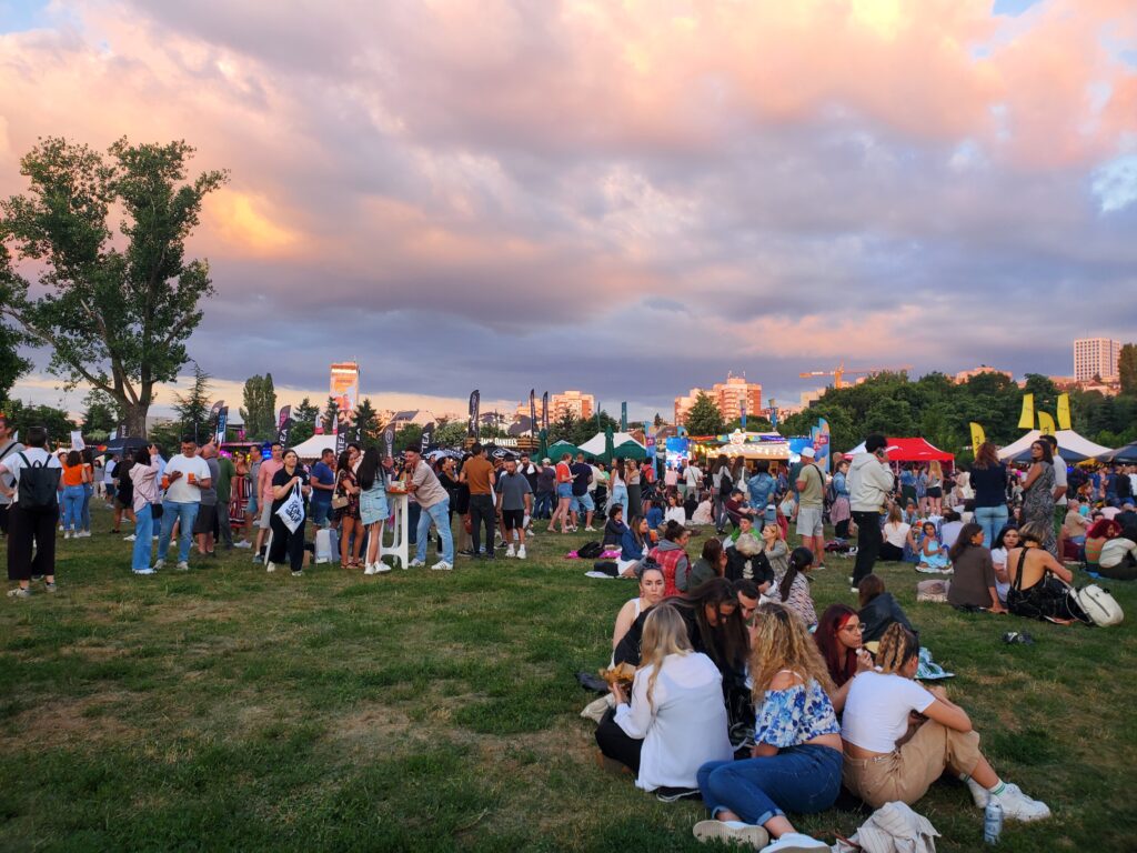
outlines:
M1044 547L1052 535L1049 522L1031 521L1019 528L1019 547L1006 553L1011 578L1006 608L1016 616L1070 624L1080 612L1067 586L1073 574Z

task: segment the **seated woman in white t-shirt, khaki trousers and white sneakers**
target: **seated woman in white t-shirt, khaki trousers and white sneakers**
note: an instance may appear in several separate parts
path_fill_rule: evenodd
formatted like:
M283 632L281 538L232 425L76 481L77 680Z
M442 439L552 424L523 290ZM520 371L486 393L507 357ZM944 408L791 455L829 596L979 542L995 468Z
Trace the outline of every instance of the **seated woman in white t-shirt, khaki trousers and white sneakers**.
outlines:
M951 770L968 784L980 809L994 800L1010 820L1048 818L1045 803L998 778L979 752L979 735L966 712L948 702L941 687L928 690L912 680L919 665L915 636L893 623L877 653L879 672L854 678L845 701L845 787L873 809L895 801L913 805ZM910 734L913 713L924 720Z

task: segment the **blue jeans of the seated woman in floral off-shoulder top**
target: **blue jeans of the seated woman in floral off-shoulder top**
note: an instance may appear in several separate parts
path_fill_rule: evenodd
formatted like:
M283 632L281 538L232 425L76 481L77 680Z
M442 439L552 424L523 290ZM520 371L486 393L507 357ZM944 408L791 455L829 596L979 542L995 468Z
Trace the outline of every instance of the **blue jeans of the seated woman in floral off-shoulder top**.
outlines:
M744 822L762 826L787 811L829 809L841 789L841 754L815 744L790 746L764 759L707 762L698 780L712 817L729 809Z

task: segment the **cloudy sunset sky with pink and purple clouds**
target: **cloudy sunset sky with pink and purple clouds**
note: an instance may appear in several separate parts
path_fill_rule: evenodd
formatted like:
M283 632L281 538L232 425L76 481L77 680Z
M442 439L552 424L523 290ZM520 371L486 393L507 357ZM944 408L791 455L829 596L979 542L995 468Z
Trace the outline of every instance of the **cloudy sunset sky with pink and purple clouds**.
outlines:
M231 403L355 358L379 408L639 417L1137 338L1132 0L0 0L0 196L49 134L231 171L189 243Z

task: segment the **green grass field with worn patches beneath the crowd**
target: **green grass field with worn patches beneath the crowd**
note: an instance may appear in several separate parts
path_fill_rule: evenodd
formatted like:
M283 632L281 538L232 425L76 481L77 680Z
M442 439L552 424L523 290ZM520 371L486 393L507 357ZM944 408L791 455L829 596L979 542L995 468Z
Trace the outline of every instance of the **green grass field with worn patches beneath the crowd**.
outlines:
M633 587L562 558L583 535L451 573L292 578L235 550L136 578L108 515L59 543L57 595L2 602L0 850L706 850L699 804L596 765L573 673L606 662ZM829 562L819 612L852 599L849 561ZM1054 811L1007 823L1002 847L1137 850L1132 622L960 614L916 604L911 569L879 570L996 769ZM1137 588L1112 586L1132 619ZM1037 645L1004 645L1012 627ZM962 785L918 811L938 850L982 846ZM861 820L799 826L832 840Z

